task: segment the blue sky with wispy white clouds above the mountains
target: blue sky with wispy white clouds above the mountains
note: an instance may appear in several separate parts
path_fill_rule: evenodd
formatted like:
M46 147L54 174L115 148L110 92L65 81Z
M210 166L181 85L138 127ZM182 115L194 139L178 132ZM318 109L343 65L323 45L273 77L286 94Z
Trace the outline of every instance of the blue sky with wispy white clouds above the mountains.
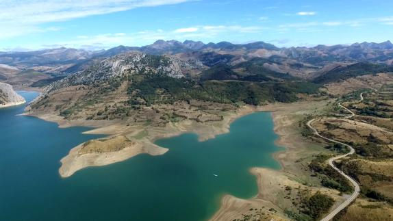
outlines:
M393 40L392 0L0 0L0 51L155 40L278 47Z

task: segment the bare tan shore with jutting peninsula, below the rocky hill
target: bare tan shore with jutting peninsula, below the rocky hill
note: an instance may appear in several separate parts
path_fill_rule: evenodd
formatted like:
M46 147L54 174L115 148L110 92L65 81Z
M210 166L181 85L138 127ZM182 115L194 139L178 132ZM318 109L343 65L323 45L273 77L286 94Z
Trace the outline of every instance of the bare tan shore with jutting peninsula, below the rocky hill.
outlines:
M244 105L234 112L223 113L224 119L219 122L195 122L194 120L183 120L177 123L169 123L166 127L155 128L155 127L142 127L138 126L126 126L121 125L120 122L108 121L108 120L64 120L61 116L54 114L31 114L23 113L24 116L33 116L46 120L49 122L56 122L60 128L65 127L92 127L90 131L85 131L87 134L103 134L107 135L106 138L115 138L119 135L125 135L130 140L136 142L134 148L127 148L125 150L107 153L85 153L79 154L78 151L81 146L86 143L79 144L69 151L68 155L64 156L60 162L62 166L59 168L60 177L70 177L78 170L82 170L88 167L94 166L105 166L114 164L116 162L130 159L139 154L147 153L150 155L162 155L165 154L168 149L162 148L154 144L156 140L163 138L170 138L173 136L181 135L183 133L196 133L198 140L203 142L205 140L213 139L216 135L223 133L229 133L229 127L231 123L247 114L253 112L262 111L260 107L253 107L250 105ZM136 139L138 133L142 131L148 131L149 135L141 139Z

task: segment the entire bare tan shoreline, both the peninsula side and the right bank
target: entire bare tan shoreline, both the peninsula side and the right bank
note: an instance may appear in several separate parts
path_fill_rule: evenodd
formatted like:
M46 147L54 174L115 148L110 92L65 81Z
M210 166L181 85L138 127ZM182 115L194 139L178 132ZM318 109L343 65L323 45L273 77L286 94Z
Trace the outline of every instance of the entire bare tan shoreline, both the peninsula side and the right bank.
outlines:
M297 172L294 172L292 168L296 166L296 163L294 162L294 156L297 157L296 151L298 150L296 148L299 148L299 144L297 144L296 139L301 139L300 144L304 144L305 142L302 140L302 137L299 138L299 134L295 134L293 132L293 128L290 128L293 127L294 123L297 123L296 120L292 118L292 114L294 113L291 112L291 108L296 110L296 114L298 116L304 116L305 113L303 113L303 109L306 104L311 105L312 107L315 106L321 108L322 106L325 106L321 104L325 104L326 102L327 101L303 101L290 104L274 103L256 107L245 105L234 112L223 113L224 119L220 122L199 123L195 122L194 120L183 120L182 122L168 123L166 127L159 129L154 127L148 127L146 129L140 126L127 127L126 125L121 125L121 123L110 121L92 122L92 120L76 120L70 122L68 120L62 119L60 116L54 116L53 114L25 115L56 122L61 128L74 126L94 127L92 130L86 131L84 133L106 134L108 135L107 138L116 137L117 135L125 135L130 140L134 140L138 134L141 133L141 131L147 131L149 134L141 139L134 140L138 144L136 145L138 147L128 148L127 150L117 152L88 153L79 155L77 152L81 148L82 144L71 148L68 155L61 159L62 166L59 168L60 176L66 178L70 177L78 170L92 166L105 166L108 164L114 164L119 161L130 159L131 157L134 157L138 154L147 153L153 156L165 154L168 149L156 146L154 144L156 140L162 138L173 137L181 135L182 133L196 133L198 135L199 141L203 142L205 140L215 138L216 135L228 133L231 123L242 116L252 114L253 112L270 112L272 121L274 123L273 130L278 136L278 138L275 140L275 145L283 147L283 150L272 153L271 156L280 164L281 168L279 170L268 168L250 168L249 172L251 172L251 174L253 174L257 179L256 181L258 190L256 196L249 199L240 199L229 194L223 195L220 200L218 211L212 214L210 220L233 220L234 218L241 218L242 214L249 212L251 206L270 207L275 209L275 211L279 211L277 213L266 211L270 218L274 218L275 220L286 220L286 216L283 214L283 209L281 209L283 208L282 202L279 201L276 196L277 193L282 192L279 189L280 184L289 183L288 185L292 185L293 187L295 187L295 185L307 187L306 185L299 183L299 180L302 182L304 181L305 174L297 174ZM312 107L307 106L307 111L314 112ZM264 177L264 179L262 179L262 177ZM275 182L272 183L271 181L270 183L266 183L265 177L268 177L268 180L273 179ZM318 187L312 188L315 190L323 190L327 194L332 194L338 197L338 192L334 192L333 190L325 190L324 188ZM336 201L340 201L340 198L337 198ZM288 202L284 203L284 205L288 205Z

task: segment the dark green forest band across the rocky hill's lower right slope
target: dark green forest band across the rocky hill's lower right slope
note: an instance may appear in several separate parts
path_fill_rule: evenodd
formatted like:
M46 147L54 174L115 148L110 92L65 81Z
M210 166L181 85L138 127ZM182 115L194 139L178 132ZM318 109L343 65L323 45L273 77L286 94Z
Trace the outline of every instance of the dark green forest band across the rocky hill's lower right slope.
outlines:
M264 102L297 101L296 94L313 94L319 86L303 81L247 82L247 81L203 81L175 79L163 75L132 75L128 93L130 105L173 103L174 101L212 101L217 103L244 102L259 105Z

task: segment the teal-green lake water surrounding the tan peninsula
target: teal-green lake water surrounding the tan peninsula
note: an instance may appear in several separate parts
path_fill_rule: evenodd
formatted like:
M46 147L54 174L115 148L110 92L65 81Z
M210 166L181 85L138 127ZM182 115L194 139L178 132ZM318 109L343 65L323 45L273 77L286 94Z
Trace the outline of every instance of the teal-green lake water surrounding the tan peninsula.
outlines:
M38 94L19 92L27 101ZM59 129L23 106L0 109L0 220L207 220L231 194L251 198L249 168L279 168L270 113L232 123L230 133L198 142L183 134L157 140L162 156L138 155L110 166L58 174L60 159L81 142L86 127ZM217 177L214 176L217 174Z

